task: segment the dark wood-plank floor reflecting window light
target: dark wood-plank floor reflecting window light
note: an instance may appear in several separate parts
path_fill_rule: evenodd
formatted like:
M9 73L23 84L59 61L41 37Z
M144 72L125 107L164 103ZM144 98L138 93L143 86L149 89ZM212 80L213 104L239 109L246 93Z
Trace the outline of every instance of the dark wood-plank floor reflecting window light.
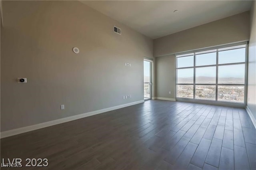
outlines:
M3 138L2 158L22 158L19 169L48 158L40 169L255 170L256 130L244 109L150 100Z

